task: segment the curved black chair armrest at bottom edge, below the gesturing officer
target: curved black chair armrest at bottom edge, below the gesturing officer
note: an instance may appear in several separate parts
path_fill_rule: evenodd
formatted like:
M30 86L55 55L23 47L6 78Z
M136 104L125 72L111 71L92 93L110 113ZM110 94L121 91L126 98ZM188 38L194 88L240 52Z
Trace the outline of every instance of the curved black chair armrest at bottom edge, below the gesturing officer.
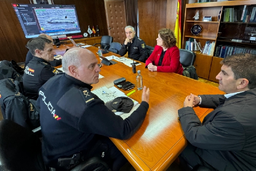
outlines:
M81 162L79 165L71 169L70 171L83 171L84 169L96 169L104 168L104 171L111 171L107 163L99 159L98 157L92 157L86 161Z

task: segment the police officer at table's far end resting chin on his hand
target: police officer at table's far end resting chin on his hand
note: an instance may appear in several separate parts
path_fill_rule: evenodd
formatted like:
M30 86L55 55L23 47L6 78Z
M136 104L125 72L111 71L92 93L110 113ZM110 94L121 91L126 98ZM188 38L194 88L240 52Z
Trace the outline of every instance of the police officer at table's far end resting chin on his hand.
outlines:
M135 35L135 31L132 26L126 26L124 30L127 38L125 39L119 54L124 56L128 50L129 58L145 62L148 57L145 42Z

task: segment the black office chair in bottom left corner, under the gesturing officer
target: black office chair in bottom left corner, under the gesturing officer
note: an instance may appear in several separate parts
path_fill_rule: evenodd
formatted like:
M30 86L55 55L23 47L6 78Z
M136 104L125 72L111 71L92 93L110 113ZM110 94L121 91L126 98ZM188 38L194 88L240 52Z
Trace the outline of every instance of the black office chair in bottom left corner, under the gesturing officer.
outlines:
M39 131L37 128L33 131ZM33 131L8 119L0 121L0 168L6 171L54 171L45 166L41 141ZM110 171L98 158L81 162L70 171Z

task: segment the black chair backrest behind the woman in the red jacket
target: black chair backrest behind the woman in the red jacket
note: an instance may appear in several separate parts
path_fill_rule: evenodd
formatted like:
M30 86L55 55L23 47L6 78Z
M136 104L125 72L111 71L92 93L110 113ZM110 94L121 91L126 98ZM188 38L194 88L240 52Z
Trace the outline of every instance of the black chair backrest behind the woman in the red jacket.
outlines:
M180 63L182 66L188 67L190 65L194 65L196 55L194 52L185 49L180 50Z

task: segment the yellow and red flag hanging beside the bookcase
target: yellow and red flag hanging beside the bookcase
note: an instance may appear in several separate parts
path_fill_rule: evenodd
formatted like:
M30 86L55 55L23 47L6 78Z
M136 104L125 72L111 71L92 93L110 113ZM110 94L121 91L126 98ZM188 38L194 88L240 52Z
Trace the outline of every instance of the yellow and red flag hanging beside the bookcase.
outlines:
M175 29L174 29L174 34L177 38L177 44L176 46L178 48L182 48L181 47L181 22L182 22L182 11L181 11L181 2L182 0L178 0L178 5L177 5L177 18L176 18L176 23L175 23Z

